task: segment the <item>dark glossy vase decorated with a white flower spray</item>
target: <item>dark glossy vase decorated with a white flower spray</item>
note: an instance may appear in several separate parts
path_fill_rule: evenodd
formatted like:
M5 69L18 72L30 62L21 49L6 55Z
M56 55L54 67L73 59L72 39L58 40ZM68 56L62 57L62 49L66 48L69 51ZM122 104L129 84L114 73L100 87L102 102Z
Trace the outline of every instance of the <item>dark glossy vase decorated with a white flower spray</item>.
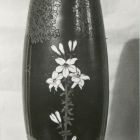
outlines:
M31 0L23 71L28 140L104 140L108 66L99 0Z

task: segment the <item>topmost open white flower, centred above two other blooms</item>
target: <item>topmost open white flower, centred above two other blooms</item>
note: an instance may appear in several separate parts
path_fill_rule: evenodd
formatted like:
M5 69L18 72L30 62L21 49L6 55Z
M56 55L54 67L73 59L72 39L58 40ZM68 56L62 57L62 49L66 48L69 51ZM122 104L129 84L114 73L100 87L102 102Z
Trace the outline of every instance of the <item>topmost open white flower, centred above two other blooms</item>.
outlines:
M63 77L67 78L70 72L76 72L76 67L74 66L74 64L77 60L77 58L72 58L68 60L64 60L63 58L55 59L56 63L59 64L59 66L56 67L56 71L58 73L62 72Z

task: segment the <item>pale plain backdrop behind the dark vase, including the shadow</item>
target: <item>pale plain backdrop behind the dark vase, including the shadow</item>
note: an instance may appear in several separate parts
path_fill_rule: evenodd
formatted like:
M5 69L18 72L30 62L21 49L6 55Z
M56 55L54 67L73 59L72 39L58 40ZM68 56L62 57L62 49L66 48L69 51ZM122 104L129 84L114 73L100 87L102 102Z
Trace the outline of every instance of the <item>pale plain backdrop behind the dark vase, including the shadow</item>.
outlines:
M138 140L139 3L101 0L109 58L106 140ZM26 140L22 58L29 0L0 0L0 140Z

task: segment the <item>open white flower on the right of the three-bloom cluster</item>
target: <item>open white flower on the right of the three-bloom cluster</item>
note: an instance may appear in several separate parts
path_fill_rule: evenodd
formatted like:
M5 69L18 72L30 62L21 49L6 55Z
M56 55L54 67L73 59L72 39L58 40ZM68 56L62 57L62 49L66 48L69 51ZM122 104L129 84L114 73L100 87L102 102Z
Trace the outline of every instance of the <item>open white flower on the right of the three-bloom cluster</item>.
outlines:
M90 77L85 74L81 74L81 71L78 68L77 72L71 73L70 76L72 77L71 80L74 82L71 88L75 88L79 85L80 89L82 89L85 84L84 80L90 80Z

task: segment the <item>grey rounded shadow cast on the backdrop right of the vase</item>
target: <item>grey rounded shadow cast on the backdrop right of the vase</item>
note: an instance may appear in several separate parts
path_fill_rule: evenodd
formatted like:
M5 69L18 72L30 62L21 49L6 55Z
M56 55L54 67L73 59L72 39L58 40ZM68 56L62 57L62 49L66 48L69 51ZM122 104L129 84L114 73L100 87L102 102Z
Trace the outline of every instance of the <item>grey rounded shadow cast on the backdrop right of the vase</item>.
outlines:
M139 40L126 43L116 74L106 140L139 140Z

